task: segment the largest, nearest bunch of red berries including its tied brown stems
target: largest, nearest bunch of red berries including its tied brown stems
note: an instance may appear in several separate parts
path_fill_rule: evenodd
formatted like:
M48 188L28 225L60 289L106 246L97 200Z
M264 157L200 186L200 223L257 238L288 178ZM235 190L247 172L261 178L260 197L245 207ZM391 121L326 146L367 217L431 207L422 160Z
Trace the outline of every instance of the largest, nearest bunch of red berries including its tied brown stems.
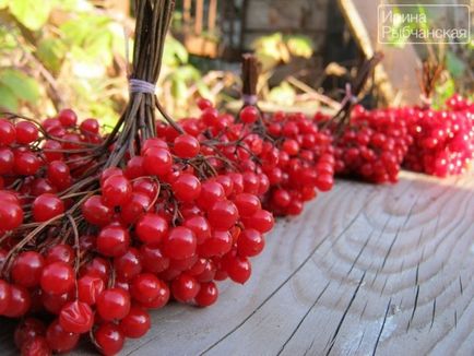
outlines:
M24 355L81 335L112 355L147 332L150 309L214 304L216 281L250 277L273 227L266 177L236 170L153 94L173 8L138 1L130 103L110 133L71 109L0 120L0 315L23 318Z

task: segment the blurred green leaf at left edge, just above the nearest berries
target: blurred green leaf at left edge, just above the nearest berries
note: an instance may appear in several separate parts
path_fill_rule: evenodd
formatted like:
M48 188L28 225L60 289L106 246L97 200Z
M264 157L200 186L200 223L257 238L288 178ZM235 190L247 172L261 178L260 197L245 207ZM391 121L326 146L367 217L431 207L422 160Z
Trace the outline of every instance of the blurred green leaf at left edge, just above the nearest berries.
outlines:
M38 83L23 72L7 69L0 73L0 85L8 87L15 97L35 104L39 98Z

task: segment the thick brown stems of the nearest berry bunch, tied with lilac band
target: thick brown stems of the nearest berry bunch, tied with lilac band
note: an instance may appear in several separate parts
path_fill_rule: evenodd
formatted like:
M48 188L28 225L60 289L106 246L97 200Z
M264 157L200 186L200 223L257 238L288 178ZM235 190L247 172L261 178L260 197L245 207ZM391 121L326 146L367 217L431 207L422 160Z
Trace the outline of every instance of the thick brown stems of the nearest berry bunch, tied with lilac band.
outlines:
M129 80L142 85L130 85L130 100L108 140L115 146L106 167L117 166L126 153L134 156L140 143L156 135L155 108L169 124L182 132L164 111L153 91L162 69L164 44L174 8L174 0L137 1L135 41Z

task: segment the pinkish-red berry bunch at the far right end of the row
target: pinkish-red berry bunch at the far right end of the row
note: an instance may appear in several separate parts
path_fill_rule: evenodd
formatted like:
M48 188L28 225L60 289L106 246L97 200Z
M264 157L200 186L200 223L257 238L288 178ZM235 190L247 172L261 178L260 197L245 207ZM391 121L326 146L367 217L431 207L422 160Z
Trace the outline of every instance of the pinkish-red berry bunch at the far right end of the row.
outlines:
M474 106L459 95L446 110L407 108L399 118L407 122L413 144L404 166L438 177L464 173L474 157Z

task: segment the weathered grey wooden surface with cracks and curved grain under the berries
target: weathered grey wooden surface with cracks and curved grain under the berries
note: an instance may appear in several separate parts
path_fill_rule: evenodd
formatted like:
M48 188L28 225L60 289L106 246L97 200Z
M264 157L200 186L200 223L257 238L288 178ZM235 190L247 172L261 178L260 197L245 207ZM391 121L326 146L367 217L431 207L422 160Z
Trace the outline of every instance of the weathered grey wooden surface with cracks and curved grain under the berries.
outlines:
M154 312L122 354L473 355L473 195L472 176L337 181L276 225L246 285Z

